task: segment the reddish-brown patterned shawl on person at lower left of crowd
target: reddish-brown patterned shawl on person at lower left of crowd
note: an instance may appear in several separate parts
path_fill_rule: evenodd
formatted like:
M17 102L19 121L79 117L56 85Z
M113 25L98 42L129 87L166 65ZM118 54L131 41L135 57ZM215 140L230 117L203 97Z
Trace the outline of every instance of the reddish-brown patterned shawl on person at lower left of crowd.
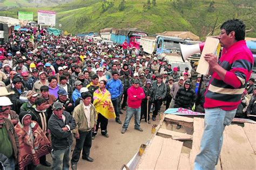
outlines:
M18 123L15 126L19 141L18 164L20 170L29 164L38 165L39 158L51 151L51 142L36 121L31 121L31 128L34 137L33 146L31 145L31 138L23 129L23 125Z

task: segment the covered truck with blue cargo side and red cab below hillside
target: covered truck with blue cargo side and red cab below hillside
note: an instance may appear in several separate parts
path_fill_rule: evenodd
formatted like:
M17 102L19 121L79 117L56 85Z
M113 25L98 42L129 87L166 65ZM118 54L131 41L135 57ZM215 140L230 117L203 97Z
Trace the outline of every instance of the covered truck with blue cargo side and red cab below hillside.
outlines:
M147 33L140 31L137 28L112 29L110 40L122 45L126 39L129 47L139 49L142 36L147 36Z

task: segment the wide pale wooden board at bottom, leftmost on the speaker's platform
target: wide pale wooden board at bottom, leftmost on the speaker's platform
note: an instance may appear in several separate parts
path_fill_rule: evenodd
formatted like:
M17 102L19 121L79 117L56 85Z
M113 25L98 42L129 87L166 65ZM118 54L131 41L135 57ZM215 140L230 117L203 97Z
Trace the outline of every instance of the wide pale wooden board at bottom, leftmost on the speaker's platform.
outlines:
M137 169L177 169L182 146L183 142L156 135L146 148Z

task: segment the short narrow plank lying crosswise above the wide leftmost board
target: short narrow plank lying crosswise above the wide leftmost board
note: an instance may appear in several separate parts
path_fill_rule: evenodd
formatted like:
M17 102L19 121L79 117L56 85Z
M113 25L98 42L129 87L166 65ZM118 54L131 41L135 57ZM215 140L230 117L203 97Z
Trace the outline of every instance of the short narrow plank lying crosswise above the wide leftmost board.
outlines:
M157 133L169 135L170 138L172 138L173 140L181 140L181 141L182 140L192 140L192 135L190 135L190 134L170 131L170 130L166 130L164 128L159 128Z

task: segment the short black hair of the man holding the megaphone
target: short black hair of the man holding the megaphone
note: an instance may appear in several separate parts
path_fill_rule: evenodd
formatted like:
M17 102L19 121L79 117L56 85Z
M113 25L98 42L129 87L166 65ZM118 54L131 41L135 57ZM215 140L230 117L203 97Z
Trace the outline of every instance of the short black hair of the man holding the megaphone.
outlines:
M245 39L245 24L239 19L229 19L224 22L220 29L225 29L227 35L231 32L235 32L235 40L244 40Z

